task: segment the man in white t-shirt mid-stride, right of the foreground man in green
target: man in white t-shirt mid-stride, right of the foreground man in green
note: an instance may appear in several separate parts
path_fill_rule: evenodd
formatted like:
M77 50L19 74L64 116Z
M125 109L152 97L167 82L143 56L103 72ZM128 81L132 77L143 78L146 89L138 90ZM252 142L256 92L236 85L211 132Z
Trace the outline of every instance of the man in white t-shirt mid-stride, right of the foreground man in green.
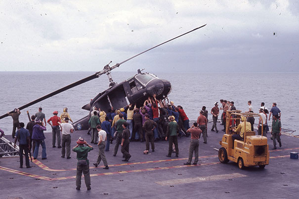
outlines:
M106 133L106 131L102 130L101 125L97 125L96 130L98 131L98 135L99 135L99 141L97 143L97 145L99 147L99 154L97 156L96 162L93 163L93 165L95 167L97 167L98 164L100 164L101 160L103 160L103 163L104 163L104 166L105 166L105 167L103 167L103 169L109 169L108 163L107 163L107 160L106 160L106 156L105 156L105 146L106 146L107 133Z

